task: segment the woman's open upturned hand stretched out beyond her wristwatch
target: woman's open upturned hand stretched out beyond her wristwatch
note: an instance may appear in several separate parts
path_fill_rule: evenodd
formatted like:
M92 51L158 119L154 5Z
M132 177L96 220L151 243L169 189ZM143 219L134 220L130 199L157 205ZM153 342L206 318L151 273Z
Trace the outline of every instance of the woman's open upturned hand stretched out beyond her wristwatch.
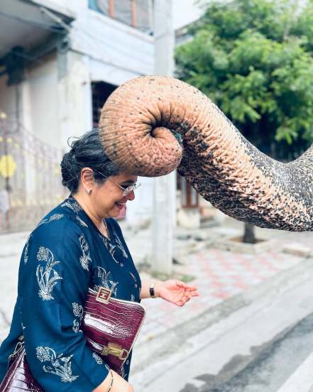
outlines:
M199 296L196 287L176 279L156 282L154 289L156 297L163 298L163 300L174 303L177 306L184 306L190 298Z

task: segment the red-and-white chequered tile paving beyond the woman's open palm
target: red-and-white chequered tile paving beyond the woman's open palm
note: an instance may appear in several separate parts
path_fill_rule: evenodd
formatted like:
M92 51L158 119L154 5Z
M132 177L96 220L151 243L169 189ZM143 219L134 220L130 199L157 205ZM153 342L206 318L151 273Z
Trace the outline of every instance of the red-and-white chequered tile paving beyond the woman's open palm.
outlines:
M180 325L251 286L272 278L300 260L297 256L278 252L249 255L217 249L204 249L188 255L184 265L180 266L180 273L195 276L191 283L198 287L200 297L194 298L182 308L164 303L162 300L144 302L148 326L141 331L141 339L148 339L151 336L150 328L156 332L162 330L160 325L163 330ZM153 324L155 320L158 320L158 324Z

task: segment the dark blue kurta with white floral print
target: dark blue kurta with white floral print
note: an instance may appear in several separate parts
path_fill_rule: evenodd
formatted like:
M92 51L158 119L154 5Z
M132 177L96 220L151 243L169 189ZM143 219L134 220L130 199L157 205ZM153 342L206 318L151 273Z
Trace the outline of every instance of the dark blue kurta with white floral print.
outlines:
M31 372L45 392L87 392L104 381L108 366L79 329L88 288L140 301L141 280L119 224L106 219L103 236L69 197L28 237L18 272L18 298L9 336L0 347L0 382L8 356L24 336ZM128 379L131 355L123 366Z

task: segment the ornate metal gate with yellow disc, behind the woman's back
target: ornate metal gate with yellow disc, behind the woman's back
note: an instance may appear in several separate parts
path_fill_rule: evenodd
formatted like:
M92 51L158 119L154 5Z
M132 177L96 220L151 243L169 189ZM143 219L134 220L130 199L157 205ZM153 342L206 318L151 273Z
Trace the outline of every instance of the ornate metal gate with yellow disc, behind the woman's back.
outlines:
M0 234L31 229L66 195L62 151L0 114Z

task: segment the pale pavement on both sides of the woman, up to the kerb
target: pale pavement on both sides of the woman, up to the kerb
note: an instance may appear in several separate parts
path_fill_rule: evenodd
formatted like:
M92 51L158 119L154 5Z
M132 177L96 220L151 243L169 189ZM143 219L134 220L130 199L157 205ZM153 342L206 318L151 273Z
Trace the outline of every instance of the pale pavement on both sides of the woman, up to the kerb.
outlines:
M155 279L147 268L150 251L150 229L133 232L121 224L133 259L141 277ZM145 346L158 347L165 334L180 329L200 315L211 312L230 298L235 298L254 286L280 276L283 271L297 266L304 256L282 253L282 249L294 243L313 254L313 233L278 232L257 229L257 235L276 239L275 247L260 254L241 254L216 249L216 244L224 237L238 236L243 232L243 224L227 219L223 226L197 230L177 229L175 234L175 263L173 276L189 281L199 289L200 297L194 298L185 307L176 307L160 299L143 300L147 310L145 323L139 334L133 356L131 379L143 371L145 361L136 352L145 352ZM0 339L9 330L9 322L16 298L18 262L28 233L0 236ZM297 248L294 246L294 249ZM295 252L297 253L297 251ZM219 317L222 317L219 316ZM153 353L150 353L151 355ZM157 355L157 353L156 353ZM135 386L136 382L134 383ZM136 388L136 391L139 391Z

